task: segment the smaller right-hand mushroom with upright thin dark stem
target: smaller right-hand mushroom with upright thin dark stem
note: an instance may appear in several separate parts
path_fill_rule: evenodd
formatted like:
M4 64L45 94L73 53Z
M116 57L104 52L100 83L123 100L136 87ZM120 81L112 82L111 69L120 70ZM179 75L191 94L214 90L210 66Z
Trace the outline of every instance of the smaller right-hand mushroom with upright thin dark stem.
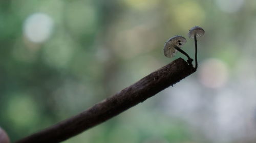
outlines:
M195 48L196 48L196 52L195 52L196 67L195 67L195 69L197 69L197 37L201 37L203 35L204 35L204 30L203 30L203 28L201 28L199 26L192 27L188 32L188 37L194 38L194 40L195 40Z

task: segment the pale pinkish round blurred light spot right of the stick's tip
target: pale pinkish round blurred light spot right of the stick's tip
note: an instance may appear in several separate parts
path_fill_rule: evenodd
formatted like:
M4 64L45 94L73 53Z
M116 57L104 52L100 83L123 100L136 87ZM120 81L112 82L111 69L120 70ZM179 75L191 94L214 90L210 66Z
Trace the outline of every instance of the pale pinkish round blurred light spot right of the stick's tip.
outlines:
M199 66L200 82L208 88L221 88L228 79L226 64L218 59L208 59Z

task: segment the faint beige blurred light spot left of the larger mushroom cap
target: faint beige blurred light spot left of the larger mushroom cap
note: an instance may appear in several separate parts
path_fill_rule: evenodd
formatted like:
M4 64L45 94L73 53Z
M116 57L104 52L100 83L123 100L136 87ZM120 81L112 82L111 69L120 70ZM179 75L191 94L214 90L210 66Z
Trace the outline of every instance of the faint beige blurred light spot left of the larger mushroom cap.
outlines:
M156 48L156 37L152 35L151 28L150 25L140 24L117 32L112 38L114 40L112 48L115 54L130 59Z

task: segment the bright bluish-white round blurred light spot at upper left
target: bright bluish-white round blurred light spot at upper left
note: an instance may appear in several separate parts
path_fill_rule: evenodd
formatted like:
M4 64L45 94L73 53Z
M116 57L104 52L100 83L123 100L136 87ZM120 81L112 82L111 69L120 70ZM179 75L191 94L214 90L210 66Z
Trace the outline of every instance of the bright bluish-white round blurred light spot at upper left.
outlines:
M34 43L46 41L53 28L53 20L45 13L34 13L24 22L23 32L26 38Z

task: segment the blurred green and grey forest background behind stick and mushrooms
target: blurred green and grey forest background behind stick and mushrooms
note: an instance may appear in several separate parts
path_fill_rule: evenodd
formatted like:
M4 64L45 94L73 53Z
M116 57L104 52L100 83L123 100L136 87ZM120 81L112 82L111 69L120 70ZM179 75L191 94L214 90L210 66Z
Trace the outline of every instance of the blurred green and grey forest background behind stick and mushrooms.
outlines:
M255 142L256 1L0 1L0 126L12 141L69 118L169 62L199 25L196 73L64 142Z

